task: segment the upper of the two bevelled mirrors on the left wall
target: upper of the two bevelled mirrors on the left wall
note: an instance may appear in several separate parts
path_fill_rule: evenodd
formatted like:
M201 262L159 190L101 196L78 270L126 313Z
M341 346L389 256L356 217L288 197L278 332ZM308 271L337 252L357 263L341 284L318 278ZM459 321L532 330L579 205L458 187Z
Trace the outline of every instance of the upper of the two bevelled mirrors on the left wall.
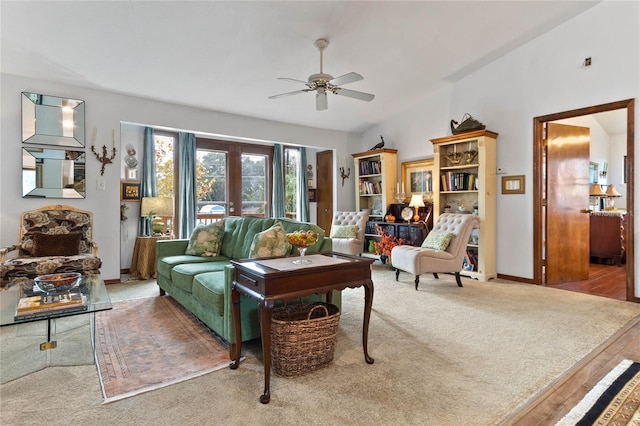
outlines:
M83 147L84 101L22 92L22 142Z

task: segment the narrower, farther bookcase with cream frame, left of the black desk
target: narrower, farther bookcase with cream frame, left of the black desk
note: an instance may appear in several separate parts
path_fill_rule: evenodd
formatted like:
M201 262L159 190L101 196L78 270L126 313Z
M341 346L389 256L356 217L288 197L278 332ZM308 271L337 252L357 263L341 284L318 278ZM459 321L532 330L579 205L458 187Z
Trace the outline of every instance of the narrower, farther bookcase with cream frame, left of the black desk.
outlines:
M369 220L382 222L394 202L398 180L398 150L375 149L353 155L356 172L356 211L369 209ZM377 239L374 233L367 238Z

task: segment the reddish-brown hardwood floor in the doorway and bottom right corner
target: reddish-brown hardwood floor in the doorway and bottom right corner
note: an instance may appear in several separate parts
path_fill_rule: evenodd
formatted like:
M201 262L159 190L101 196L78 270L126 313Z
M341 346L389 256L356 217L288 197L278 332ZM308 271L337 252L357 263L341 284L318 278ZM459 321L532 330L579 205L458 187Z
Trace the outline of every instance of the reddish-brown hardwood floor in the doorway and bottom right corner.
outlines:
M625 268L590 264L588 281L548 287L626 300ZM623 359L640 361L640 317L609 338L502 425L555 424Z

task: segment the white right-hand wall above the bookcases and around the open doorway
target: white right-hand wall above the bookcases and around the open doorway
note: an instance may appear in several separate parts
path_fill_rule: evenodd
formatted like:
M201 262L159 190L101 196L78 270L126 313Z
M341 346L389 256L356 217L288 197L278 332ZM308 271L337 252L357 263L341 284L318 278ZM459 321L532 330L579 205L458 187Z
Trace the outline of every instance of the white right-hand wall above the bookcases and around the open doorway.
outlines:
M433 152L428 140L450 135L449 120L459 121L465 113L499 133L498 167L507 174L524 174L526 194L501 196L496 188L497 270L533 278L533 118L638 98L639 18L638 2L600 3L452 84L448 91L379 123L363 135L361 144L368 146L384 134L399 150L399 161L426 158ZM593 60L589 68L582 67L586 57ZM639 117L636 106L636 123ZM639 156L636 153L636 162ZM640 199L640 174L635 178ZM638 219L635 229L640 230ZM638 264L640 252L636 253ZM636 296L640 296L638 280L640 274L636 274Z

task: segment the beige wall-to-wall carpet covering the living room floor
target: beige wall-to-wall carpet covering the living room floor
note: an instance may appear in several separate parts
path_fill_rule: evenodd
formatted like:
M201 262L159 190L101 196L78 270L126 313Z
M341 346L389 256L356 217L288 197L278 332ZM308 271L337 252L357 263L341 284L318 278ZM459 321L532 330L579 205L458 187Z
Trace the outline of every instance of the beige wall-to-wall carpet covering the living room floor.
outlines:
M375 363L362 354L363 290L346 290L334 362L272 375L267 405L252 343L237 370L106 405L95 366L46 368L0 386L0 424L495 425L640 315L638 304L528 284L425 275L416 291L409 274L394 278L374 266ZM67 408L51 416L59 401Z

